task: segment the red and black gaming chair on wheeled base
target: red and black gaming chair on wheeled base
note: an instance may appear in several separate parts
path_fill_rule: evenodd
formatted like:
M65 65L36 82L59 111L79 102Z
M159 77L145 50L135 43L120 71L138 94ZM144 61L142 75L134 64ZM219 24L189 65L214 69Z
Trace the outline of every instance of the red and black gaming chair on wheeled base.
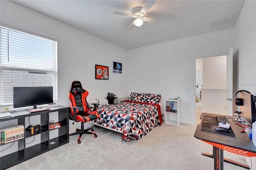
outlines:
M94 129L92 127L88 129L84 129L84 123L99 118L98 112L95 111L96 105L98 105L98 103L94 104L94 108L95 108L94 111L90 111L90 106L86 101L86 97L88 96L88 94L89 94L88 91L82 88L80 81L72 82L71 89L69 92L69 101L70 101L69 119L74 122L75 121L81 122L81 129L76 128L76 132L69 134L69 136L80 134L77 141L78 144L81 143L80 138L84 133L94 134L94 138L97 137L96 133L93 132ZM92 132L88 132L88 130L92 130Z

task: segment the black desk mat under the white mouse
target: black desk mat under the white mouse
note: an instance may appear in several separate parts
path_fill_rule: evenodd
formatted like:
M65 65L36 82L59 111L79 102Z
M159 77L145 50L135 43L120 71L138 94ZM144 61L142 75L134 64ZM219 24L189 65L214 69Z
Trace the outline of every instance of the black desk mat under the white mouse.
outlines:
M220 130L215 130L215 128L218 127L218 120L216 117L204 115L201 123L200 130L203 132L218 134L222 136L227 136L231 138L236 138L236 135L234 134L232 128L230 127L228 130L229 132L223 132Z

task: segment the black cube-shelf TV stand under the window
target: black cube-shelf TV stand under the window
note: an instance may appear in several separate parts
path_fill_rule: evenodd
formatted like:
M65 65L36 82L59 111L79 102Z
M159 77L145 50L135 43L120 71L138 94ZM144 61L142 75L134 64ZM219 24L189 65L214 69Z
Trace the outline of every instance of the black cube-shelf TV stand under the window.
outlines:
M52 112L58 112L58 113L52 113ZM58 128L58 136L55 138L49 137L50 131L55 130L55 129L50 129L49 128L49 115L50 114L58 114L58 123L60 123L61 127ZM38 133L41 136L41 142L39 144L36 144L34 146L27 147L26 146L26 140L31 134L31 130L25 130L24 131L24 138L20 140L16 140L14 142L18 142L18 148L16 152L7 154L5 156L1 155L0 157L0 169L4 170L7 168L10 168L14 165L20 164L21 162L24 162L28 159L34 158L35 156L38 156L44 152L48 152L54 148L57 148L59 146L62 146L64 144L67 144L69 142L69 110L68 107L65 106L53 106L50 107L50 110L45 110L41 112L35 112L35 113L29 113L28 111L18 111L12 113L12 117L5 117L1 118L0 122L6 122L6 121L12 121L14 119L17 120L18 125L24 125L25 122L27 121L25 118L34 116L34 115L40 115L41 119L41 130L40 133ZM2 128L2 127L1 127ZM5 127L4 127L5 128ZM35 135L38 135L35 134ZM36 137L36 136L35 136ZM7 143L7 144L12 144L13 142ZM7 145L3 144L3 145ZM1 146L3 146L1 145ZM0 146L0 150L4 150ZM8 149L7 149L8 150ZM7 151L6 150L6 151ZM5 151L5 152L6 152Z

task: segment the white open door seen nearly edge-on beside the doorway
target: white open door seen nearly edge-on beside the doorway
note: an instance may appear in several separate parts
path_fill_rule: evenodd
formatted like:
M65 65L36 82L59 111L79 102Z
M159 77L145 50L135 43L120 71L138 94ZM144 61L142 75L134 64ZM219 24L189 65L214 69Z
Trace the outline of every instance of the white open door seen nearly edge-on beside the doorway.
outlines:
M227 54L227 115L233 115L233 47Z

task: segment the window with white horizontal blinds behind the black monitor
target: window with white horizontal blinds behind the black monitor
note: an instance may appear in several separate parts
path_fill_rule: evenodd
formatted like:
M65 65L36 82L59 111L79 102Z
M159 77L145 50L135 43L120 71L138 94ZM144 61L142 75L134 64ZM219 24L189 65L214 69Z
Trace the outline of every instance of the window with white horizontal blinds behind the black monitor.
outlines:
M13 87L53 86L58 99L57 42L0 27L0 106L13 105Z

